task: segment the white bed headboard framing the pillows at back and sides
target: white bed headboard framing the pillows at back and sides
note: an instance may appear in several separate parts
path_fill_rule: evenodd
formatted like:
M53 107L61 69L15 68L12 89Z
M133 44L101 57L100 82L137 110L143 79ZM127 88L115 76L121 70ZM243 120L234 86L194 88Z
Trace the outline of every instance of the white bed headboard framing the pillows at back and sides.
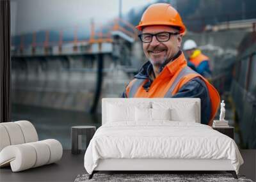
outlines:
M152 107L152 103L168 103L168 105L186 105L193 104L195 107L196 123L201 123L200 117L200 98L102 98L102 125L107 122L107 108L109 103L124 103L125 105L136 105L140 102L148 102Z

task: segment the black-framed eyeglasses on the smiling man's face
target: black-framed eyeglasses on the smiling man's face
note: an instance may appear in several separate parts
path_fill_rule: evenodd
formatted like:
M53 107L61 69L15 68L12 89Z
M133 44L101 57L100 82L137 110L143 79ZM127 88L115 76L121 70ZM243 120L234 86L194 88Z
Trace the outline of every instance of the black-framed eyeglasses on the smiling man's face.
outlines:
M153 36L156 36L156 39L158 42L167 42L168 40L170 40L171 35L176 35L176 34L179 34L179 33L173 33L173 32L159 32L156 34L141 33L138 36L141 42L150 43L152 42Z

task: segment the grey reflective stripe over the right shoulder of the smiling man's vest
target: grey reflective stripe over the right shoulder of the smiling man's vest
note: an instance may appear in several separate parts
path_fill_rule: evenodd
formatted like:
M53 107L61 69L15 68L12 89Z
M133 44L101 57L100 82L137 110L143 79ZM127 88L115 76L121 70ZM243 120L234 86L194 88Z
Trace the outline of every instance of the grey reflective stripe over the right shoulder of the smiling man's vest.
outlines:
M170 98L172 97L172 93L173 90L175 89L175 87L177 86L177 84L179 84L180 79L182 79L183 77L185 77L186 75L189 75L191 73L196 73L194 72L191 68L189 68L188 66L184 67L180 72L179 75L175 78L175 80L173 81L172 86L170 87L170 89L168 89L168 91L166 92L166 94L164 95L164 98Z

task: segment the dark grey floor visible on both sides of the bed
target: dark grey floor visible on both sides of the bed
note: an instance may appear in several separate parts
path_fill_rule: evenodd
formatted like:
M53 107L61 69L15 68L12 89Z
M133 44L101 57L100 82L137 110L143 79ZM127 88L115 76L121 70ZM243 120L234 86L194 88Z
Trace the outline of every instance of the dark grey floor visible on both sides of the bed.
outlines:
M241 155L244 164L241 166L239 174L255 181L256 150L241 150ZM61 160L57 163L21 172L12 172L10 167L1 168L0 181L74 181L78 174L86 173L83 162L84 151L79 155L72 155L70 150L64 150Z

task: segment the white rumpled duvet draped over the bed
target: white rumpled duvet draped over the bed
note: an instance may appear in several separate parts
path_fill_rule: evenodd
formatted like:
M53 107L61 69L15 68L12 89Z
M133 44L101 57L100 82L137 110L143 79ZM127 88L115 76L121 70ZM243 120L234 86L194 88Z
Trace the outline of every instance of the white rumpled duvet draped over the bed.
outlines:
M92 174L99 159L106 158L229 159L237 174L243 164L230 137L207 125L177 121L100 126L84 155L86 171Z

